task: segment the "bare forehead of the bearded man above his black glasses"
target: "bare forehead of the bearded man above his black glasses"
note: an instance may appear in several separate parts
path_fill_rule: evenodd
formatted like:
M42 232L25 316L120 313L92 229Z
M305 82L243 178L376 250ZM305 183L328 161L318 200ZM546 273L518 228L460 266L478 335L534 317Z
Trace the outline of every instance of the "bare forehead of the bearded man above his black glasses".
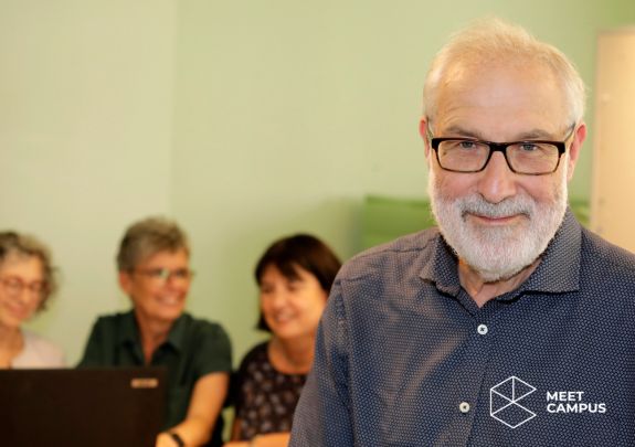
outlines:
M504 141L552 139L570 126L567 94L553 74L499 64L479 71L468 65L441 85L432 130Z

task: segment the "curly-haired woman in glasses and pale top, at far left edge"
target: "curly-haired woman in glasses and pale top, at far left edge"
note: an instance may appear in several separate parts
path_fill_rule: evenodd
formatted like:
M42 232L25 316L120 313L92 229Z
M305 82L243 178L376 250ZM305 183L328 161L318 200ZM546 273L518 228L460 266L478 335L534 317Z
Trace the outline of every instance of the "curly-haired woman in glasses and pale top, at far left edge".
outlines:
M62 350L24 330L56 289L49 249L38 240L0 233L0 368L62 368Z

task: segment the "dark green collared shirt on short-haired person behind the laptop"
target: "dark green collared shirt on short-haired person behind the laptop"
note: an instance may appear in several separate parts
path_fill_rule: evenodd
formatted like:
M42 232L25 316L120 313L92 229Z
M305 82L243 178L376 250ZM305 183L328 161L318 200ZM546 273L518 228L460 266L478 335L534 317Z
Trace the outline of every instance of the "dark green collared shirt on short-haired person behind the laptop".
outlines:
M142 366L141 340L133 311L99 317L78 368ZM152 354L151 366L168 370L168 400L163 428L186 418L197 381L213 372L231 372L231 344L224 329L183 313L172 326L168 339ZM211 446L222 445L223 422L214 426Z

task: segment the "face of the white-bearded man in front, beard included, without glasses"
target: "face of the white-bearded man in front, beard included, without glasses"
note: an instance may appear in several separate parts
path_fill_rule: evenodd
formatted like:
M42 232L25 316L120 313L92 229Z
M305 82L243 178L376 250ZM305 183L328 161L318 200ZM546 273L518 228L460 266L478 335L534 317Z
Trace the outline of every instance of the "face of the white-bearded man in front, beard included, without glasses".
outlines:
M462 67L440 86L437 114L422 121L422 132L428 127L434 137L562 141L573 125L568 116L562 88L544 66ZM514 173L501 152L480 172L448 172L426 148L442 234L485 281L514 276L544 251L562 222L583 137L584 129L576 130L557 171L543 175Z

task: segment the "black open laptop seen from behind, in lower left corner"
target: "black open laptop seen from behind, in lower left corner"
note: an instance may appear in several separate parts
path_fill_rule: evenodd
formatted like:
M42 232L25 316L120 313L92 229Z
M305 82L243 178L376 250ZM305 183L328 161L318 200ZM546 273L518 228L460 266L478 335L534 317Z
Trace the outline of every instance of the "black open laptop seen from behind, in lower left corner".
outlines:
M154 447L162 368L0 370L0 445Z

